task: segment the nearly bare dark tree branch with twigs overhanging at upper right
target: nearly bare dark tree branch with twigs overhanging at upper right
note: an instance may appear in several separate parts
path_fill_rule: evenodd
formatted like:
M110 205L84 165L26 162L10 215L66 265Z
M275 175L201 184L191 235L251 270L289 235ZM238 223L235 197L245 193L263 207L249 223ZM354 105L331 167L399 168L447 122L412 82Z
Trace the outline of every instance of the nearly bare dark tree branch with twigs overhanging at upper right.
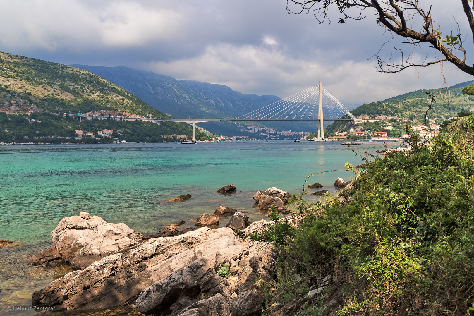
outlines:
M460 1L463 5L467 21L469 22L474 41L473 11L469 6L469 0ZM290 9L289 3L299 7L299 9ZM451 35L447 35L446 38L443 38L441 27L435 29L435 25L438 24L433 20L431 6L429 6L428 10L422 9L419 7L418 0L287 0L286 6L288 13L292 14L314 12L314 16L319 23L323 23L328 19L328 14L332 8L335 9L337 13L342 14L342 17L339 18L339 23L347 23L348 19L363 19L365 18L363 10L368 8L374 9L374 13L377 16L377 25L407 39L401 41L401 43L411 44L413 48L419 48L421 50L423 50L420 46L422 43L429 44L428 48L434 48L434 54L430 57L430 60L426 62L427 59L425 59L421 64L412 61L414 51L411 52L409 58L405 61L402 59L401 63L390 63L390 60L387 63L383 62L382 58L379 57L379 51L379 53L374 55L377 57L378 72L401 72L410 67L427 67L446 61L452 63L463 72L474 75L474 65L469 66L465 63L467 53L463 46L463 41L461 40L461 30L456 19L455 21L458 26L456 34L453 35L451 32ZM349 11L352 12L357 9L356 14L349 14ZM413 24L412 21L418 21L420 23L420 31L415 31L408 27L407 21L410 21L410 25ZM456 55L459 51L462 52L462 57ZM442 56L438 58L437 53L442 54Z

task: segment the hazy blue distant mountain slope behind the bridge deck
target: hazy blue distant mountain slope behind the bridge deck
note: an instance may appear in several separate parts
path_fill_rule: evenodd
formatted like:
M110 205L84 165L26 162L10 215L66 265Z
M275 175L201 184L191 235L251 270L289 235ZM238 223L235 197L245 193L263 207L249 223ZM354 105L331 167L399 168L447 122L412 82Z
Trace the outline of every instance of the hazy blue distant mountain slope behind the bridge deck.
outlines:
M274 95L242 94L220 84L176 80L163 74L124 66L103 67L79 64L71 66L112 81L154 108L179 118L239 117L280 100ZM247 124L293 131L310 131L317 126L313 122L247 122ZM213 122L199 123L199 125L219 135L244 135L237 124Z

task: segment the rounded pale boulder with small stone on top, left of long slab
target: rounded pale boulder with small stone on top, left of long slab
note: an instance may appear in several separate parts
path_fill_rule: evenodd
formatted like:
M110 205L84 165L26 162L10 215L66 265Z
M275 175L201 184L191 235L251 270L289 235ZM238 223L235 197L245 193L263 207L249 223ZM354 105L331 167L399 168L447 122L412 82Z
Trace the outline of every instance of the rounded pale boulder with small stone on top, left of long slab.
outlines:
M73 269L84 269L92 262L142 242L141 235L126 224L107 223L98 216L64 217L51 233L53 244Z

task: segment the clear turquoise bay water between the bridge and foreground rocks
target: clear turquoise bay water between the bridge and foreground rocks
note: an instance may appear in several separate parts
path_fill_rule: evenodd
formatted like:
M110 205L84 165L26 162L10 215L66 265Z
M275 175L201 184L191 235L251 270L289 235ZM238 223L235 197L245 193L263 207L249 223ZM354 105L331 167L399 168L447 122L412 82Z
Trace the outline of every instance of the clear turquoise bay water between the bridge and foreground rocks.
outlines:
M1 146L0 240L18 241L18 245L0 249L0 303L25 305L29 300L30 304L34 290L69 271L26 266L32 254L52 244L49 234L63 217L89 212L150 234L181 219L186 221L183 227L194 226L192 219L212 214L220 205L246 210L251 220L260 220L267 217L255 208L256 191L275 186L294 193L301 191L310 172L361 163L340 143ZM383 145L352 147L365 156L365 151ZM351 175L324 173L308 183L318 181L323 189L334 192L336 178L349 180ZM236 193L216 192L230 183L237 186ZM167 202L182 194L192 198ZM225 226L227 221L224 218L219 224Z

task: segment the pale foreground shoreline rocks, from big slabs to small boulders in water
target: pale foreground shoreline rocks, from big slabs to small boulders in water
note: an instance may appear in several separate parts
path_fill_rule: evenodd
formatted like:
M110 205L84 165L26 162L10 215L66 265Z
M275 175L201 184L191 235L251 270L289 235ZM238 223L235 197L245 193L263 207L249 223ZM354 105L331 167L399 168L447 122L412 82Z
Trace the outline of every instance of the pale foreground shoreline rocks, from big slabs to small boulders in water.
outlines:
M219 191L229 194L235 186ZM274 187L254 196L257 208L276 209L283 216L290 213L289 199L289 192ZM241 238L269 224L249 223L244 212L221 206L197 220L202 227L180 230L185 224L180 221L155 235L89 213L64 217L51 233L53 246L29 264L69 264L75 271L34 292L33 305L54 308L54 313L38 314L43 316L91 311L109 316L259 315L265 300L261 285L275 275L276 253L268 244ZM230 216L226 227L212 229L221 216Z

